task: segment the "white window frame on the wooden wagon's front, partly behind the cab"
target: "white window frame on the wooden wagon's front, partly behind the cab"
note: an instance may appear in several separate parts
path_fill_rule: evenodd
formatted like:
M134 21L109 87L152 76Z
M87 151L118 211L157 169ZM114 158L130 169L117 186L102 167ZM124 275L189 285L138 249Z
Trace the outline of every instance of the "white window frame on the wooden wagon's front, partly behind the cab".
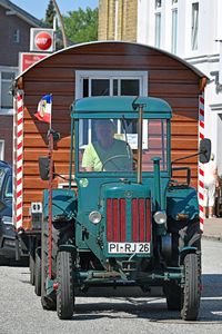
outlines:
M94 70L77 70L75 71L75 99L83 97L83 80L89 79L109 79L110 80L110 96L113 96L113 80L139 80L140 81L140 96L148 96L148 71L94 71ZM89 82L89 87L90 87ZM119 86L120 87L120 86ZM120 91L118 91L120 96ZM145 120L144 120L145 121ZM83 131L80 131L83 132ZM144 143L147 134L144 132ZM80 138L80 141L82 138ZM89 140L91 141L91 128L89 128ZM83 140L82 140L83 141ZM147 144L144 144L147 145ZM84 145L81 146L83 148Z

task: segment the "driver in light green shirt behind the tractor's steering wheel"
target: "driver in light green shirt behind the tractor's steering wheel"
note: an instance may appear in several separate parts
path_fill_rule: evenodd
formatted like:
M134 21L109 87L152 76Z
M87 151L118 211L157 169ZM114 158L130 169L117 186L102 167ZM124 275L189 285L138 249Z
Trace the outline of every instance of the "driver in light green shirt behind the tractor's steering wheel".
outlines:
M115 126L110 119L95 122L97 140L83 153L82 167L87 171L132 170L132 151L128 143L114 138Z

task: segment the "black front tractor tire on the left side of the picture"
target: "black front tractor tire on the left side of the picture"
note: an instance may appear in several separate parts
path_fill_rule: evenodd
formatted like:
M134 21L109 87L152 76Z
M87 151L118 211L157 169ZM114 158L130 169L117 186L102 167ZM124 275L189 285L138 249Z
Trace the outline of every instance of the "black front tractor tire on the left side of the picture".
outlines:
M72 318L74 311L74 287L72 277L72 255L62 250L57 256L57 314L61 320Z

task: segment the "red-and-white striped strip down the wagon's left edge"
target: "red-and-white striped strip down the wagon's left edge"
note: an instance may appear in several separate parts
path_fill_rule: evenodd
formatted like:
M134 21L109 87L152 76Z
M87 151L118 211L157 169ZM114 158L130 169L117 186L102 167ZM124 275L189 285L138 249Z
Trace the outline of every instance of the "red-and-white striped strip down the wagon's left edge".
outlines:
M22 227L23 178L23 95L17 94L17 163L16 163L16 226Z

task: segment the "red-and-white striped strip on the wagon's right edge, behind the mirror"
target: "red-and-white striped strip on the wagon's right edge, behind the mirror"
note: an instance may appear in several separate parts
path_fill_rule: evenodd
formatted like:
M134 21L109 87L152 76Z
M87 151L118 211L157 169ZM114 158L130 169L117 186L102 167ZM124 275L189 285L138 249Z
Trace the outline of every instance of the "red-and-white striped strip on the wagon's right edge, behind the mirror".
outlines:
M204 139L204 94L199 96L199 141ZM203 232L204 224L204 168L203 164L199 163L199 208L200 208L200 228Z

